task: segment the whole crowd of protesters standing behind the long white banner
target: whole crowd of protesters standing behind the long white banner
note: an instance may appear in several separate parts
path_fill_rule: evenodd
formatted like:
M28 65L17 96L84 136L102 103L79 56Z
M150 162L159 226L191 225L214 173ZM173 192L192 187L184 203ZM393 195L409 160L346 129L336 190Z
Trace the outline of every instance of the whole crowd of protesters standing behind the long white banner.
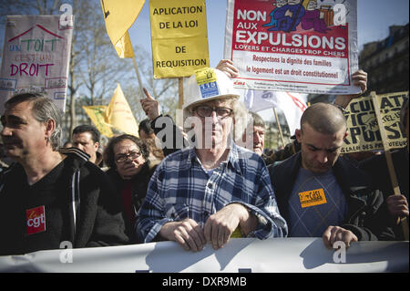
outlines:
M59 249L62 242L87 248L174 241L200 252L238 237L321 237L329 249L335 242L405 240L408 98L400 111L407 144L391 152L401 190L395 194L384 154L341 152L344 110L367 91L364 70L351 75L361 93L310 105L291 143L265 149L264 120L233 87L236 64L222 59L207 69L218 89L203 95L196 75L187 80L183 127L144 88L138 136L116 134L104 146L89 124L62 140L61 111L45 94L8 99L1 112L0 255Z

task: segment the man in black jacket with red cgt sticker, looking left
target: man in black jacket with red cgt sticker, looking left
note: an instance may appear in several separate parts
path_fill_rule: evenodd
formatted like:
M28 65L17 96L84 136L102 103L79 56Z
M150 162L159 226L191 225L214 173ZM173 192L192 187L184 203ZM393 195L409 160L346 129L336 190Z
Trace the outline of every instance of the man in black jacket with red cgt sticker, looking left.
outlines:
M61 114L50 99L17 95L1 121L16 163L0 181L0 255L128 243L107 175L82 151L58 151Z

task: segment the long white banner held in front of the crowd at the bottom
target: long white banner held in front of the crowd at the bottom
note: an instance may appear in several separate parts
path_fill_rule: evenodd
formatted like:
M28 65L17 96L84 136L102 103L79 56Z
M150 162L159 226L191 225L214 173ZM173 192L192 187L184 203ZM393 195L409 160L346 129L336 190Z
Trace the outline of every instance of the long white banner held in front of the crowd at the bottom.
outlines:
M64 244L63 244L64 243ZM187 252L175 242L0 256L0 272L51 273L374 273L408 272L408 242L354 242L329 250L322 238L231 238ZM168 277L168 275L167 275ZM162 282L159 282L160 284ZM169 282L163 282L168 284ZM195 284L201 286L202 282ZM159 288L155 288L157 290ZM195 289L195 288L193 288Z

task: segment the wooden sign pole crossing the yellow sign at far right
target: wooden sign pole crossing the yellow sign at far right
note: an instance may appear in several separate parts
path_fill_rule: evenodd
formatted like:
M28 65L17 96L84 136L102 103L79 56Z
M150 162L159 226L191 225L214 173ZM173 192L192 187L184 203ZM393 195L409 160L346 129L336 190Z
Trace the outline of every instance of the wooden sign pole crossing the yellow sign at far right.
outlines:
M387 142L387 135L385 134L385 130L383 126L382 114L380 113L379 100L377 99L377 95L374 91L372 91L370 94L372 96L372 100L374 104L374 113L377 119L377 123L379 125L380 135L382 137L385 161L387 162L387 169L389 170L390 181L392 182L393 191L395 195L400 195L400 187L398 185L397 176L395 174L395 166L393 165L392 153L390 152L390 147ZM398 219L397 223L400 223L400 219ZM403 228L403 234L405 234L405 240L408 241L407 220L404 219L401 221L401 223L402 223L402 228Z

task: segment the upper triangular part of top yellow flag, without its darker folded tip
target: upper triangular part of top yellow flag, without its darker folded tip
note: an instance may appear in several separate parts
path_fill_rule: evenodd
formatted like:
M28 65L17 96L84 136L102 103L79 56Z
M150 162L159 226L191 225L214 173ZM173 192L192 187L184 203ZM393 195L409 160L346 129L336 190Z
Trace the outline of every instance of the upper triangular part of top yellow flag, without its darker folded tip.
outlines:
M145 0L100 0L109 39L116 46L137 19Z

